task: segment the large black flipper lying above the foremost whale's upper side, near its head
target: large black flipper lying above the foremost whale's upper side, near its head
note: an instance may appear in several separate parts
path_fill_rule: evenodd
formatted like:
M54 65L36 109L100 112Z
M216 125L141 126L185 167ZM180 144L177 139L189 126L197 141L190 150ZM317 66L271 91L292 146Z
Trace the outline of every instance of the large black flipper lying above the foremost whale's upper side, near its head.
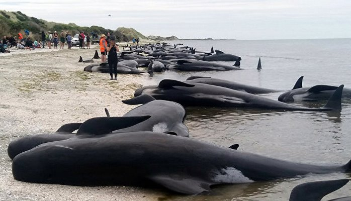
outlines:
M96 117L86 120L78 129L77 135L104 135L112 131L134 126L149 119L140 117Z

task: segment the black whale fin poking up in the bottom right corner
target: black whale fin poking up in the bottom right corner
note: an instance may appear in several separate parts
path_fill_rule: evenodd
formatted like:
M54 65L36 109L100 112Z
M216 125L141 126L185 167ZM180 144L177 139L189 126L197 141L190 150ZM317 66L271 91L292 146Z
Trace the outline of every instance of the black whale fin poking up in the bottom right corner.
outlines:
M290 194L289 201L320 201L325 195L341 188L348 179L314 181L297 185Z

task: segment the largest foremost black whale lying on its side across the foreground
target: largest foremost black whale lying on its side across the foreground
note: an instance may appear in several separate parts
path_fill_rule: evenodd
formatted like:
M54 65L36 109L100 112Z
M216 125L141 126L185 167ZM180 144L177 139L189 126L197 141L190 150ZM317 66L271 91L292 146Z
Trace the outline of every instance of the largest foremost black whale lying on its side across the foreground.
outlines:
M344 165L312 165L233 150L209 142L156 132L118 135L90 124L69 140L39 145L17 155L16 180L82 186L157 183L172 191L198 194L211 185L247 183L297 175L349 172Z

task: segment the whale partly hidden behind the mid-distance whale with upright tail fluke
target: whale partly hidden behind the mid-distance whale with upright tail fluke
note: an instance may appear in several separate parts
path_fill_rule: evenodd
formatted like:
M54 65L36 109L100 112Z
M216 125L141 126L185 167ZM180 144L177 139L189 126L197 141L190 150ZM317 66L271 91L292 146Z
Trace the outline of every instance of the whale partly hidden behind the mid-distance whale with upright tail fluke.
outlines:
M187 83L197 82L197 83L204 83L204 84L211 84L216 86L222 86L225 88L231 88L238 91L244 91L247 93L252 94L261 94L261 93L272 93L272 92L279 92L281 90L275 90L270 88L261 88L256 86L250 86L246 84L241 84L234 81L228 81L224 79L217 79L211 77L200 77L200 76L191 76L187 78Z

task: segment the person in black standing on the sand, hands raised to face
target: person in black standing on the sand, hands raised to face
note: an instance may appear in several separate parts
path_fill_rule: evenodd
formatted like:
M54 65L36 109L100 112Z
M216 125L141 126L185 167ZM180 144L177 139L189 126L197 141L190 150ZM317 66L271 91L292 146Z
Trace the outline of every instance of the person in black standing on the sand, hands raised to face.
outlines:
M118 63L118 58L117 58L117 52L119 52L118 45L116 44L116 38L115 36L111 35L110 36L111 43L107 45L107 52L108 54L108 62L109 62L109 68L110 68L110 76L111 80L113 79L112 75L113 73L115 74L115 80L117 80L117 63Z

